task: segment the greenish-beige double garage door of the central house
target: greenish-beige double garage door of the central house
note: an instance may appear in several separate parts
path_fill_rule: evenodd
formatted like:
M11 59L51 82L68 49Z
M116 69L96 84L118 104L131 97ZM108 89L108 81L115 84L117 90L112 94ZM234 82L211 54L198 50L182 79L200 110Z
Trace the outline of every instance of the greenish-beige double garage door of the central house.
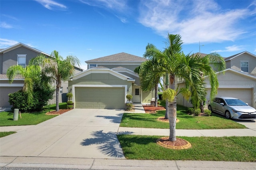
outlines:
M124 88L76 87L76 108L124 109Z

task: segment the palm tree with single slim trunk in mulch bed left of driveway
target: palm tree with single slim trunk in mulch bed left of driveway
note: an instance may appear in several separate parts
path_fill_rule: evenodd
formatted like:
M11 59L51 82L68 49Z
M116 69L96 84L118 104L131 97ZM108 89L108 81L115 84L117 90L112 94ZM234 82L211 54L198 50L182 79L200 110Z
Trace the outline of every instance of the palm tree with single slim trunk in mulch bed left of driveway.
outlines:
M74 65L80 66L80 61L73 55L68 55L63 59L58 51L54 50L51 57L45 55L38 55L31 60L34 65L40 65L44 75L50 77L51 81L56 83L56 111L59 111L59 91L62 81L66 81L74 75Z

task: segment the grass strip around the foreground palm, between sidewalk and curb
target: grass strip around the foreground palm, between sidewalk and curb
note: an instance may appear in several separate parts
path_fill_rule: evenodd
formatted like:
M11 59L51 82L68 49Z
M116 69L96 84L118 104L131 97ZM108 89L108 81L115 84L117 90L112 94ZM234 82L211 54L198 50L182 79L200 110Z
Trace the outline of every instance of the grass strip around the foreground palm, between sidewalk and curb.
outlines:
M212 160L256 162L256 137L179 137L191 143L184 150L166 149L156 144L162 136L118 135L127 159Z

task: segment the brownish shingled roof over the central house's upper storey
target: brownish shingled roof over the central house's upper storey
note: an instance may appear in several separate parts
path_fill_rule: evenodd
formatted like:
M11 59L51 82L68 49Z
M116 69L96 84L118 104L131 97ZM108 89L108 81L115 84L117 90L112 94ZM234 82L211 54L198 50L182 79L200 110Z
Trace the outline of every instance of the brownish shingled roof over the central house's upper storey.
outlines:
M86 63L101 63L101 62L138 62L142 63L143 61L147 61L147 59L138 57L136 55L128 54L128 53L117 53L113 55L108 55L106 57L100 57L96 59L91 59L85 61Z

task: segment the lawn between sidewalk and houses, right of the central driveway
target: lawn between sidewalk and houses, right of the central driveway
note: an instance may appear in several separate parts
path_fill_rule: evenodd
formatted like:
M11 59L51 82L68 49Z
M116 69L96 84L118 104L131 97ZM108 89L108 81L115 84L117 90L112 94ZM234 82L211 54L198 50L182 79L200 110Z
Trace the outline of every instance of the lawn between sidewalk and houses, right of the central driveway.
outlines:
M120 127L137 128L169 128L169 123L157 121L158 117L164 117L165 111L158 111L155 114L124 113ZM177 106L176 129L228 129L246 128L244 125L226 119L220 115L199 117L187 114L186 107Z

